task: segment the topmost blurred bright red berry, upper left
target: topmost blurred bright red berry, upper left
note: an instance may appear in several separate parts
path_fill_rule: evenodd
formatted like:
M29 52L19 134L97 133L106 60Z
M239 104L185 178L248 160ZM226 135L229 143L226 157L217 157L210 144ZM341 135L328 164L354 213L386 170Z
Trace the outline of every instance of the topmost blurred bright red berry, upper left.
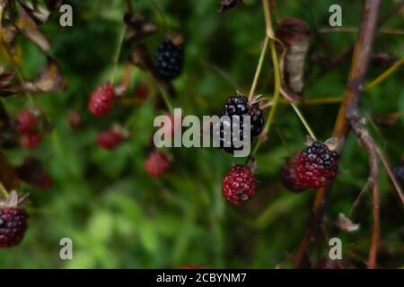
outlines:
M105 115L112 109L114 100L115 88L110 83L106 83L98 87L95 91L92 91L88 109L94 116Z

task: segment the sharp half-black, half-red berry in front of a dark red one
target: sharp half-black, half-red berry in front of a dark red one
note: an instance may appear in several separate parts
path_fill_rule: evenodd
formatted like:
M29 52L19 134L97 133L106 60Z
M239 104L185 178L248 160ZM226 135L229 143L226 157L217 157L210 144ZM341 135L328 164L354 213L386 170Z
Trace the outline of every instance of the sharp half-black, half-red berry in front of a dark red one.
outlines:
M313 142L296 156L296 184L301 188L325 187L337 176L338 153L327 144Z

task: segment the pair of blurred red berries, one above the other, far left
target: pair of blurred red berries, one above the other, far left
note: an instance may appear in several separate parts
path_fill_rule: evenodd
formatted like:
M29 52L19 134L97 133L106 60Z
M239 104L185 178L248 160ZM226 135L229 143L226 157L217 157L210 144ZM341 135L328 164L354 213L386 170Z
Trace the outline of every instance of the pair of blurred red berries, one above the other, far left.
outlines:
M36 109L25 109L18 116L15 129L21 135L21 145L24 149L35 149L42 142L39 126L40 112Z

